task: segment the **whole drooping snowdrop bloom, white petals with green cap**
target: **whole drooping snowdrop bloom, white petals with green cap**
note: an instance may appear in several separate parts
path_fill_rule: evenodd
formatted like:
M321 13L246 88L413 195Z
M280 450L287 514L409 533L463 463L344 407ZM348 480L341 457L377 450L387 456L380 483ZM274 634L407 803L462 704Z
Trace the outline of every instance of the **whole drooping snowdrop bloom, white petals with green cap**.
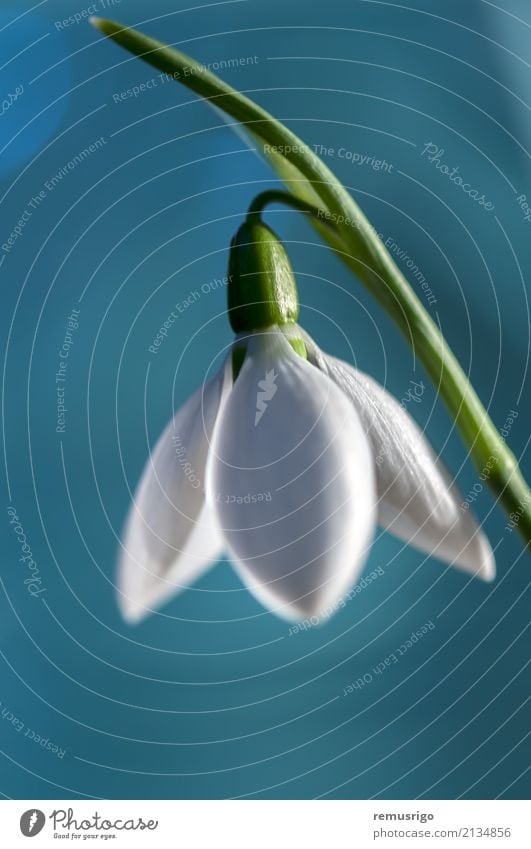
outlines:
M153 612L224 552L277 615L326 618L378 523L492 580L490 545L414 420L296 324L288 258L261 221L233 240L229 281L234 344L163 432L130 509L125 618Z

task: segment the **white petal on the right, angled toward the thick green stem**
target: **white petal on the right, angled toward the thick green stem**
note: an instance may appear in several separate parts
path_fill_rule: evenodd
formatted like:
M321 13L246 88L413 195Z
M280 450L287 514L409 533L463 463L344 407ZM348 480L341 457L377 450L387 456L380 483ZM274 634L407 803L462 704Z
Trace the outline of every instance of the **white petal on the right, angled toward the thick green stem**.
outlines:
M371 443L380 524L421 551L492 580L489 542L413 418L371 377L308 343L315 365L351 399Z

